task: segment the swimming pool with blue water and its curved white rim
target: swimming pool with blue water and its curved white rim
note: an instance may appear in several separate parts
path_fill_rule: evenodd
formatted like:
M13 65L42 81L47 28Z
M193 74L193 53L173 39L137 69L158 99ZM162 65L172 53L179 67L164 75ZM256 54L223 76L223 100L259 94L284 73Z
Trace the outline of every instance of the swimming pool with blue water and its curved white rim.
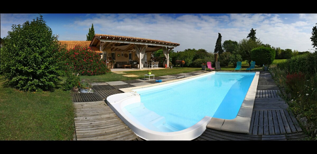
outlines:
M150 132L139 135L144 139L194 139L206 129L211 117L237 117L255 74L212 72L157 86L133 87L130 89L134 92L109 96L107 102L125 123L133 125L127 124L132 130L139 129L133 130L137 135L138 131ZM185 132L191 132L190 137L176 137ZM162 138L159 133L170 137Z

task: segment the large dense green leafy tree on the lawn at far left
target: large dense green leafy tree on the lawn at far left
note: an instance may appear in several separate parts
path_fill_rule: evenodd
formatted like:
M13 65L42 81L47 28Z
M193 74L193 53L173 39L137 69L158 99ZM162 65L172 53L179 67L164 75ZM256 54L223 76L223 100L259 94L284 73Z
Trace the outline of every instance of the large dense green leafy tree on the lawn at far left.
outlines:
M22 25L12 25L3 38L1 73L5 85L23 91L53 90L63 75L65 46L55 39L42 15Z

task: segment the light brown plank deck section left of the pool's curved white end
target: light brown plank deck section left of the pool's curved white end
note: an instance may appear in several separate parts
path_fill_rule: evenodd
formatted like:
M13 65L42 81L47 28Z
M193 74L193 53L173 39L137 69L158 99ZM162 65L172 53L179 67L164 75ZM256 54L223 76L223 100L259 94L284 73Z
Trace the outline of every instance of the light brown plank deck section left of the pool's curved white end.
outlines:
M104 101L75 102L77 140L135 140L139 137Z

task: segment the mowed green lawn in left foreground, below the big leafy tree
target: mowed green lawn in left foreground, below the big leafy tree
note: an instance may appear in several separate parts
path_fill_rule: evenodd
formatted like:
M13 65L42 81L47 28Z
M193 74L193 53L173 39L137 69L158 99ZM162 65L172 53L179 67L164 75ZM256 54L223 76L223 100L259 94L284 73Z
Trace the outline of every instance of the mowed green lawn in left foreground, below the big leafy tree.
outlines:
M0 140L72 140L70 91L22 92L0 82Z

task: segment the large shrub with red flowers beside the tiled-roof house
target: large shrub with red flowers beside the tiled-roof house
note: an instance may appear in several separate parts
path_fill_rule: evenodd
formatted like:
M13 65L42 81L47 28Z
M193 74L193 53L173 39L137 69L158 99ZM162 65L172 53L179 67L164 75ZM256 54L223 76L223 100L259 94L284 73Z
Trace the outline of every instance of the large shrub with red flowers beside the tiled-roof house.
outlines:
M90 47L77 45L69 49L62 58L65 58L66 67L81 75L91 76L110 72L106 62L100 59L100 55L92 51Z

